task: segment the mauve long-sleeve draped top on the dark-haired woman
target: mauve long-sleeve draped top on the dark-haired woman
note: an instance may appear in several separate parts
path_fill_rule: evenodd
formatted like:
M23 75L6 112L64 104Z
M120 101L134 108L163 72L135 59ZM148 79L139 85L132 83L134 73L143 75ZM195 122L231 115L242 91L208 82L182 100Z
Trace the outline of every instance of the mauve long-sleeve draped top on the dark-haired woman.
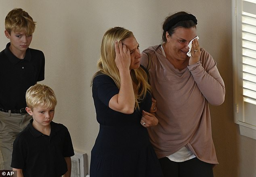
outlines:
M215 60L201 48L200 61L179 71L161 47L152 46L142 52L144 67L148 65L148 56L149 82L157 100L159 120L148 132L157 157L168 156L186 146L199 160L218 164L208 104L224 102L225 85Z

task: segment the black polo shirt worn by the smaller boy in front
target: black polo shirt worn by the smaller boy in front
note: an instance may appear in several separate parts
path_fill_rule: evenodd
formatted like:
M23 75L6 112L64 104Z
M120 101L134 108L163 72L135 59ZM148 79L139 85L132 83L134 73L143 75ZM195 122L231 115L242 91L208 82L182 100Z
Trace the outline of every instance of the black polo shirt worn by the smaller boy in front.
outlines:
M24 177L60 177L67 172L64 157L74 155L67 127L51 122L50 136L29 125L13 143L11 167L22 169Z

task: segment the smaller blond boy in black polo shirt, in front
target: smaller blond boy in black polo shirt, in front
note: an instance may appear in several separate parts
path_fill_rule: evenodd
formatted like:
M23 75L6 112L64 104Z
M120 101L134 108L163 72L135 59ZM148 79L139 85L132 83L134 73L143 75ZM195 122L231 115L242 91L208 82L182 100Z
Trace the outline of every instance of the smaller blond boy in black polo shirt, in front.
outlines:
M26 102L33 119L13 143L11 167L17 177L70 177L74 150L67 127L52 121L57 104L53 90L31 86Z

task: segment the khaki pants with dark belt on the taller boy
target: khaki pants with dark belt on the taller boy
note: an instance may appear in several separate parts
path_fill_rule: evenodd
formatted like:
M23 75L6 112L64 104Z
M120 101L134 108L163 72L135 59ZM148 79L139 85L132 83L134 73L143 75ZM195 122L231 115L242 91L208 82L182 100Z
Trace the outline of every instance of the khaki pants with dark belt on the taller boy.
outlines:
M32 117L29 114L13 114L0 111L0 170L12 170L13 142Z

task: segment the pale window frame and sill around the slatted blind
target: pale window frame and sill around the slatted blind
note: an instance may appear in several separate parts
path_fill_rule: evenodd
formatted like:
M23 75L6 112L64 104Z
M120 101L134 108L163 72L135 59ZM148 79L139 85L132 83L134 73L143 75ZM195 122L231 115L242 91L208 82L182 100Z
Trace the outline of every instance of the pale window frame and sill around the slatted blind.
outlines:
M243 101L242 3L232 0L233 110L240 134L256 140L256 125L246 122ZM254 110L253 110L254 111ZM256 110L255 110L256 115Z

